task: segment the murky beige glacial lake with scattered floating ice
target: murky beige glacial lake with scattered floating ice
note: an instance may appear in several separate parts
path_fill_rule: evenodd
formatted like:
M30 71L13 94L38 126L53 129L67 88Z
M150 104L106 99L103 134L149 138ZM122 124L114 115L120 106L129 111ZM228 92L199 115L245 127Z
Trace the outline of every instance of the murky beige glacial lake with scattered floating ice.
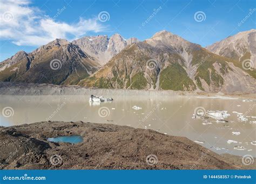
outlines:
M0 96L0 125L48 120L127 125L187 137L219 154L251 154L256 157L256 101L199 96L109 97L114 100L89 103L89 95ZM198 107L205 111L225 110L228 116L224 121L211 117L193 118ZM241 115L248 116L247 120L239 118Z

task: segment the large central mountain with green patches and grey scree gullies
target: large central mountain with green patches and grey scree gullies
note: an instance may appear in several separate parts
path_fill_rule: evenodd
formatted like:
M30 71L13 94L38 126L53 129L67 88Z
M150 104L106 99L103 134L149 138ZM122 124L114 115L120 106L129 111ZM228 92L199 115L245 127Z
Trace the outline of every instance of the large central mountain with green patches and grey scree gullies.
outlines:
M256 76L241 68L238 61L161 31L126 47L78 84L146 90L255 91Z

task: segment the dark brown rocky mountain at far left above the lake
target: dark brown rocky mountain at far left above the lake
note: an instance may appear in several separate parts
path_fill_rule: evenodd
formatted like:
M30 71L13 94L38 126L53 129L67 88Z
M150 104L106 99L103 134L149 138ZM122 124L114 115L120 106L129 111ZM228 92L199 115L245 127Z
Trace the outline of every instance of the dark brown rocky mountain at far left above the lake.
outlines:
M56 39L31 53L3 61L1 81L76 84L99 67L97 60L67 40Z

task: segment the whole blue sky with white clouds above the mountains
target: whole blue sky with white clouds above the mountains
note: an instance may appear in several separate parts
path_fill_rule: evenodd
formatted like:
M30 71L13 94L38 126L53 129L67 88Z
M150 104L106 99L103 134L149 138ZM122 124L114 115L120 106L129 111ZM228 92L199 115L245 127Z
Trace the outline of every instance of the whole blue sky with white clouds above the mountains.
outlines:
M145 40L167 30L207 46L240 31L255 29L256 25L254 0L0 0L0 3L0 61L17 51L31 52L55 38L73 40L119 33L126 39ZM100 19L100 12L107 19ZM197 12L199 15L195 17ZM244 23L242 19L246 19Z

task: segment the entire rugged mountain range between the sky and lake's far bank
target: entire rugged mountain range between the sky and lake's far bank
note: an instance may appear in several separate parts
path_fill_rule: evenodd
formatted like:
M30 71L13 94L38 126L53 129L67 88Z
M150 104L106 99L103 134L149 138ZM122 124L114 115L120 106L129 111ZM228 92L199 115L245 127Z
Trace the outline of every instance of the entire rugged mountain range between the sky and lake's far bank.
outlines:
M167 31L144 41L119 34L56 39L0 62L0 81L255 93L255 34L240 32L206 48Z

